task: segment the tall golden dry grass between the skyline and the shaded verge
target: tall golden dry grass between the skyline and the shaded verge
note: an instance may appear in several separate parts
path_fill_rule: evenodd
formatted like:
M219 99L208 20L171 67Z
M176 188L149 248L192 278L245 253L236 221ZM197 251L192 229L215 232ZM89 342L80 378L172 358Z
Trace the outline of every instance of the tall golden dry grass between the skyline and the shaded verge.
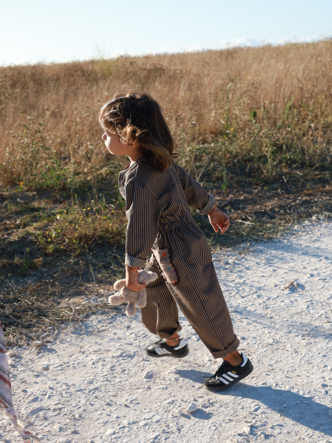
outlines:
M331 170L332 40L281 47L0 68L1 184L97 187L121 167L97 126L117 89L161 103L196 176L224 186ZM213 146L212 146L213 143ZM201 146L200 146L201 145Z

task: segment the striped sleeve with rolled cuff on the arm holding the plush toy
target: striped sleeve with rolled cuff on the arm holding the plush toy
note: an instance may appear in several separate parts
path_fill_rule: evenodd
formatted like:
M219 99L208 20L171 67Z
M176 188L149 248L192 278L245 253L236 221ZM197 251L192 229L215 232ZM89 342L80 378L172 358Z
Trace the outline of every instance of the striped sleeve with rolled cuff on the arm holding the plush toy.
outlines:
M151 190L143 183L126 184L126 231L125 264L144 268L158 233L161 209Z

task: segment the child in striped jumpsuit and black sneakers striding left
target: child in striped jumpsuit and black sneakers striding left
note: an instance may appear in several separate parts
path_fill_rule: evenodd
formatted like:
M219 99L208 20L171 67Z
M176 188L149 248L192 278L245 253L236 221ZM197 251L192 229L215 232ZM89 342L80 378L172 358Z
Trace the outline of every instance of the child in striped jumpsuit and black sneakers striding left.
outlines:
M179 338L178 307L214 358L224 361L204 385L212 391L230 388L251 373L250 360L237 348L231 318L218 283L211 252L189 206L208 214L215 230L224 233L228 217L214 198L173 162L175 142L157 101L145 92L115 94L99 113L108 151L127 155L130 163L119 175L126 201L126 284L139 291L138 269L158 274L149 284L142 321L159 339L147 346L151 357L185 357ZM189 205L189 206L188 206ZM147 255L152 252L146 264Z

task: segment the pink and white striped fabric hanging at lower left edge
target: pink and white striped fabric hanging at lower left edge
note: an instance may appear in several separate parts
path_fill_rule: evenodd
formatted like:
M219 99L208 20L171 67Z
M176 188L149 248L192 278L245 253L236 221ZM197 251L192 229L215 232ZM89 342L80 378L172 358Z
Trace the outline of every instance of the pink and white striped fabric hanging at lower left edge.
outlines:
M4 331L0 322L0 410L12 422L17 433L22 437L24 443L41 443L35 434L24 429L23 424L17 420L16 411L13 408L12 385L9 377L9 365L4 345Z

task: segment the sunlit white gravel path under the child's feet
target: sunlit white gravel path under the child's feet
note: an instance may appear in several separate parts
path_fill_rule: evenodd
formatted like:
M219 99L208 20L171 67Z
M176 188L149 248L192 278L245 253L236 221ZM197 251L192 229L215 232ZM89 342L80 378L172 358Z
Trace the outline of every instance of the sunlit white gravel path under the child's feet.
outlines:
M104 311L66 326L48 347L17 349L19 418L47 443L331 443L331 257L325 221L214 255L240 349L254 365L229 391L203 388L221 360L181 313L189 355L154 360L139 315ZM196 411L186 412L190 404ZM0 441L21 441L6 420Z

